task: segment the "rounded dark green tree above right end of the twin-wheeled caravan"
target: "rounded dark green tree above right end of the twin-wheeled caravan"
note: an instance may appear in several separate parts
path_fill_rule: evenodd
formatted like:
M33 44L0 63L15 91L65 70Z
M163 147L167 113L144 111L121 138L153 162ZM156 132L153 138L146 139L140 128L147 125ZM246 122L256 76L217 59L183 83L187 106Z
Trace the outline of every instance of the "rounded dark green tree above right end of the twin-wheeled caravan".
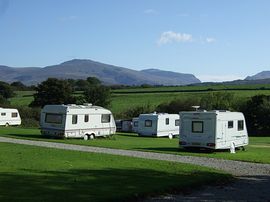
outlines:
M110 88L106 86L90 86L84 91L83 95L85 101L93 105L107 107L111 103Z

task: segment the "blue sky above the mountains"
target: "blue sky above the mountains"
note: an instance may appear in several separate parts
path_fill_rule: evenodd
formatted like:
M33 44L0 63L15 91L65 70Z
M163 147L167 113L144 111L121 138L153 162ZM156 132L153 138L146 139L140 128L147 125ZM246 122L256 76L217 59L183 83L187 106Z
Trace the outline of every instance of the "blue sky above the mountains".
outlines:
M270 70L269 9L269 0L0 0L0 64L76 58L243 79Z

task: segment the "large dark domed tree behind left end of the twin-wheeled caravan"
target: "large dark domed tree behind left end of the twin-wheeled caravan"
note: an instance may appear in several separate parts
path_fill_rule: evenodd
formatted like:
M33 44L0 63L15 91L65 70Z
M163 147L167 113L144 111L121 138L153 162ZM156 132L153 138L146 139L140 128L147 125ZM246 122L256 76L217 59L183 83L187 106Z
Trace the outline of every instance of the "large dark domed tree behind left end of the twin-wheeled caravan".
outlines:
M74 103L72 87L66 80L49 78L36 87L34 101L30 107L43 107L47 104L68 104Z

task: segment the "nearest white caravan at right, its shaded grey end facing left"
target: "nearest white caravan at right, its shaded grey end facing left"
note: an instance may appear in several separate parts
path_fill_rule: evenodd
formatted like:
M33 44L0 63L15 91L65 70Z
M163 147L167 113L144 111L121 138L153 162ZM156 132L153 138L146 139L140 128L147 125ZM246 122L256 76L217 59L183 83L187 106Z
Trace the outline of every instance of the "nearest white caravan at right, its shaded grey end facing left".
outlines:
M231 149L248 144L245 117L224 110L180 112L179 146Z

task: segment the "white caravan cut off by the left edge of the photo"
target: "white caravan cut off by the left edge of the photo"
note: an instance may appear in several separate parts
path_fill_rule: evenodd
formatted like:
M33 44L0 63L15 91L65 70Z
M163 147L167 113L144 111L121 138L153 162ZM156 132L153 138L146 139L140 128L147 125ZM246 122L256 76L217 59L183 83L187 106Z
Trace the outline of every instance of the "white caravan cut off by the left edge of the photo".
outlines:
M0 125L16 126L21 125L21 117L17 109L8 109L0 107Z

